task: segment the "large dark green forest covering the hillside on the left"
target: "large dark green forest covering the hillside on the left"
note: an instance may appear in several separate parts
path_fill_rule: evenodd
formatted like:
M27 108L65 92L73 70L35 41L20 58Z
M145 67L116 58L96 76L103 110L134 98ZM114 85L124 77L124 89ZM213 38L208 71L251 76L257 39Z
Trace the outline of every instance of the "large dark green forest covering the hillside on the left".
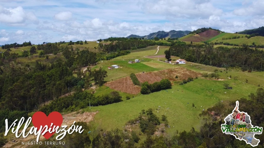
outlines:
M45 53L62 50L65 58L57 58L50 64L36 61L20 65L8 61L12 54L7 55L7 60L5 56L8 52L4 52L3 56L0 54L0 132L4 130L5 119L27 117L27 113L39 109L41 103L91 87L92 80L101 86L107 77L107 72L102 68L91 71L88 67L87 71L82 71L82 67L95 65L98 61L94 52L73 52L67 47L58 49L55 45L43 46L41 49ZM76 73L77 77L74 77L73 73ZM105 99L108 101L108 98ZM96 104L105 105L104 102Z

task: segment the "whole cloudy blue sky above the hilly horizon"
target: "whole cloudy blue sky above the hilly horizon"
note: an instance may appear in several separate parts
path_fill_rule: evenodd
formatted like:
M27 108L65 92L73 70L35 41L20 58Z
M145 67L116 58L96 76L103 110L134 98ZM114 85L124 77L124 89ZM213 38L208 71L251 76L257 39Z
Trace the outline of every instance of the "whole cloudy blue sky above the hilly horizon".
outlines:
M0 0L0 45L264 26L263 0Z

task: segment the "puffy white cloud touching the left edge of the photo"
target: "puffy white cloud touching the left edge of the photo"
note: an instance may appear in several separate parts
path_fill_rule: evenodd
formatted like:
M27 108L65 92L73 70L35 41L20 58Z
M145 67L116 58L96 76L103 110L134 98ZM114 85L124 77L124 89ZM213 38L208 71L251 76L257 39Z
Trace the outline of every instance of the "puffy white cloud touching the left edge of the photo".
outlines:
M16 8L0 7L0 22L9 24L21 24L26 20L38 22L37 17L32 12L25 12L21 6Z

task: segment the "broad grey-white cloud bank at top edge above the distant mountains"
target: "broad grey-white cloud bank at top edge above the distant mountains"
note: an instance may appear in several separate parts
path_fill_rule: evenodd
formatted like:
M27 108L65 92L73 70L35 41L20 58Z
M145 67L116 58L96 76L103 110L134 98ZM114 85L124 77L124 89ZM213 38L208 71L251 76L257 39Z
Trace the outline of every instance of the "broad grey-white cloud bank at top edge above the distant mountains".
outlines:
M222 10L215 8L209 0L148 0L143 1L142 9L148 13L163 14L170 19L176 18L207 18L211 15L220 16Z

